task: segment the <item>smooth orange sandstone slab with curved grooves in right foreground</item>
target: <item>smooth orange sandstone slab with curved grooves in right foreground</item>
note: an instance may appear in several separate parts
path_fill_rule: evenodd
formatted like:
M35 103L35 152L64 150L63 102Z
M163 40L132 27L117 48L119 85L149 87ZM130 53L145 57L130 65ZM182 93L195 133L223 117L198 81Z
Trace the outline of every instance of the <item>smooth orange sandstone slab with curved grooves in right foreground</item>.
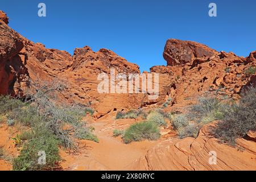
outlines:
M256 144L238 139L238 147L221 144L211 137L214 123L205 125L195 138L171 138L147 151L145 156L130 164L131 170L255 170ZM251 136L254 136L252 133ZM210 158L215 152L216 164Z

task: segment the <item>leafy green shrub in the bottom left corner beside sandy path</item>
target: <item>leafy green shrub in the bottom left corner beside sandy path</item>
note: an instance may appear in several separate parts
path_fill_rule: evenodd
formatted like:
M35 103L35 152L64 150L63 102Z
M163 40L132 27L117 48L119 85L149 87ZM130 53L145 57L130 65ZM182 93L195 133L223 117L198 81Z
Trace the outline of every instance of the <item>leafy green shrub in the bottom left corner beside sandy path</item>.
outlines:
M34 138L25 143L20 155L13 161L14 170L52 170L60 162L59 141L54 135L48 133L44 137ZM46 164L39 164L39 151L46 152Z

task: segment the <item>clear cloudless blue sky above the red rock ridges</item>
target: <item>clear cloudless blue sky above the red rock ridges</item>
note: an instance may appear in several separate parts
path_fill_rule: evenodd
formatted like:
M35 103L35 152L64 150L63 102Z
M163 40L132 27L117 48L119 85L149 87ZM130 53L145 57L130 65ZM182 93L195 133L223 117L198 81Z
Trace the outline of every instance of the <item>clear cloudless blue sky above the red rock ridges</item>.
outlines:
M47 16L38 16L38 3ZM217 17L208 16L210 2ZM108 48L141 71L166 65L169 38L193 40L247 56L256 49L255 0L1 0L10 27L33 42L73 55L76 47Z

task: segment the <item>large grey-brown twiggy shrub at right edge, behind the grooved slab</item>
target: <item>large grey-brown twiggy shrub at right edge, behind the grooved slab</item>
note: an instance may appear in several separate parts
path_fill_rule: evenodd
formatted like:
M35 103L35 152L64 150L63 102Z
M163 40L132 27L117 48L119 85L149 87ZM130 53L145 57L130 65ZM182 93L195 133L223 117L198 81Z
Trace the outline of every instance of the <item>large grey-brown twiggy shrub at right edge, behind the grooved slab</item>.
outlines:
M236 138L244 137L249 130L256 130L256 88L251 86L241 93L241 100L225 110L214 134L217 138L236 144Z

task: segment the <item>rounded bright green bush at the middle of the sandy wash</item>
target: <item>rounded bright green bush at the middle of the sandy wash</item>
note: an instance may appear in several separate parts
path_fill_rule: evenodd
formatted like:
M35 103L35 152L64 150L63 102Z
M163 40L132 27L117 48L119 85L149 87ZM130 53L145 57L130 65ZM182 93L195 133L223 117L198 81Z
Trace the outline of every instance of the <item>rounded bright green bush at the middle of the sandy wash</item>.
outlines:
M158 126L153 122L139 122L131 125L123 135L123 141L141 141L144 139L156 140L160 137Z

